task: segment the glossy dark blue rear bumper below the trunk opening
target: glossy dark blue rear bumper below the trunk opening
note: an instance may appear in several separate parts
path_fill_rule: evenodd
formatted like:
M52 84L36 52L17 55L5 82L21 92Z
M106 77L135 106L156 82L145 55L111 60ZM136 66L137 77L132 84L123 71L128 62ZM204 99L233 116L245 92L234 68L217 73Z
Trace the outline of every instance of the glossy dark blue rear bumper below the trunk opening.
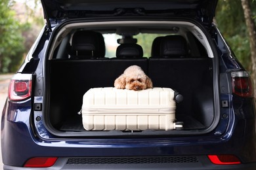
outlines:
M13 110L19 110L17 105L11 104ZM30 100L24 105L29 106ZM23 105L23 106L24 106ZM247 105L245 109L247 109ZM251 106L252 107L252 106ZM25 114L29 116L29 110ZM256 161L255 134L251 129L245 129L245 121L234 120L226 133L216 137L177 137L175 138L147 138L144 139L40 139L33 133L28 119L25 120L16 112L17 117L6 118L3 114L2 122L2 153L3 162L7 165L22 166L27 158L38 156L57 157L125 157L125 156L200 156L207 154L234 154L243 163ZM235 116L235 115L230 115ZM236 116L237 117L237 116ZM254 124L246 122L246 126ZM234 133L230 133L236 129ZM216 132L217 133L217 132ZM8 137L7 137L8 136ZM22 139L22 141L16 141ZM8 140L8 141L6 141ZM22 146L20 146L22 144ZM24 150L25 149L25 150ZM35 152L36 150L36 152ZM5 153L9 154L5 154ZM16 154L22 153L22 157ZM18 156L18 158L16 158Z

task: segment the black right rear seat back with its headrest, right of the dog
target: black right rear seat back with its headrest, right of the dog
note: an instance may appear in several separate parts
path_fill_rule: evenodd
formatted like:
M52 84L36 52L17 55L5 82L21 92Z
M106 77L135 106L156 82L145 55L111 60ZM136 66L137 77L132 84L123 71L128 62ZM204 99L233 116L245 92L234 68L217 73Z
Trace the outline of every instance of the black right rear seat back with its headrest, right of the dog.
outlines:
M188 56L186 39L168 35L161 37L160 55L148 60L148 76L155 87L172 88L181 93L184 100L177 105L177 113L190 114L193 92L203 84L211 84L211 67L210 58Z

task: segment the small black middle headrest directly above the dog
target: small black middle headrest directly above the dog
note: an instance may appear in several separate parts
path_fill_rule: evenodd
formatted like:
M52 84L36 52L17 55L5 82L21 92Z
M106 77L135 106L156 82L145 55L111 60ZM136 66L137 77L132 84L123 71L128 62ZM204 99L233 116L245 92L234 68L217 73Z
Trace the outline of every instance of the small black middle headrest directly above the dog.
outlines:
M120 44L116 49L117 58L142 58L143 50L139 44Z

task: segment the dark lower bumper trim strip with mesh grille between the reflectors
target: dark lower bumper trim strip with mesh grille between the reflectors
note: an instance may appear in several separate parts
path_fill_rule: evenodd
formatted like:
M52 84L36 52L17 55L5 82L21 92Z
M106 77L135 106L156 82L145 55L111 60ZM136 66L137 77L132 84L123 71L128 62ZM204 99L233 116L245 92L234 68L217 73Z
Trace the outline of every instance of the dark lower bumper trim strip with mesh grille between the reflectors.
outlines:
M132 158L132 159L131 159ZM145 158L145 157L144 157ZM192 161L181 162L183 160L182 157L179 157L179 161L177 161L178 157L171 157L173 160L177 162L162 162L158 163L159 157L152 157L153 161L142 163L140 160L144 158L58 158L56 163L52 167L44 168L44 169L248 169L254 170L256 169L256 163L244 163L239 165L214 165L211 163L207 156L186 156L184 159L192 158ZM163 157L162 157L163 158ZM163 160L166 157L163 158ZM197 161L194 161L194 158ZM111 161L116 160L116 161ZM128 162L127 160L133 160ZM139 161L135 161L139 160ZM148 159L147 159L148 160ZM155 160L155 161L154 161ZM120 162L119 162L120 161ZM9 165L4 165L5 170L18 170L18 169L32 169L32 168L25 168L25 167L13 167ZM41 168L35 168L41 169Z

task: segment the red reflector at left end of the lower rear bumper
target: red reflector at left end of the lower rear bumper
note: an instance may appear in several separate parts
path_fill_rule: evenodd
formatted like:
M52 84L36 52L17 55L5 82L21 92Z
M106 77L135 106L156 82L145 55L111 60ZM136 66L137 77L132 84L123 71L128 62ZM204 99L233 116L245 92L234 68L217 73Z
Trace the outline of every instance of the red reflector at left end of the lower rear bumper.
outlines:
M36 157L26 161L24 167L51 167L58 158L56 157Z

